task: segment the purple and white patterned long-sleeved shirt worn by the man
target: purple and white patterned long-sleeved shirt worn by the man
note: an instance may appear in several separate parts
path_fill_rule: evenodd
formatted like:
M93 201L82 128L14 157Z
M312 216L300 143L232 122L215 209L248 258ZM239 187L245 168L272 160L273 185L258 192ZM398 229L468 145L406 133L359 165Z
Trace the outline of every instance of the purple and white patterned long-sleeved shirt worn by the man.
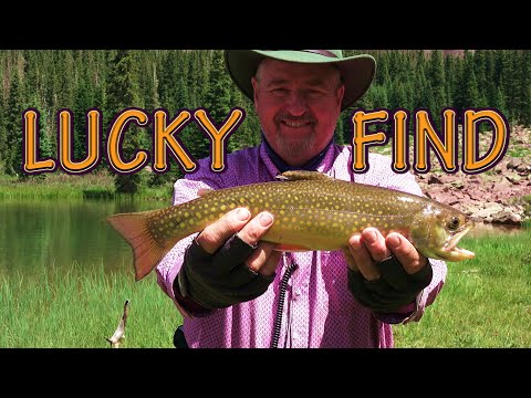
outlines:
M331 177L423 195L412 174L398 175L391 159L369 154L369 170L352 172L351 147L331 145L317 171ZM198 170L175 184L174 203L197 198L200 188L220 189L238 185L272 181L279 174L262 145L227 156L226 170L210 170L210 158L199 161ZM184 332L190 347L270 347L279 307L279 289L288 266L296 270L288 282L279 347L393 347L392 325L356 302L347 289L347 265L341 251L285 253L277 275L260 297L194 317L175 298L174 280L183 264L185 249L194 235L179 241L158 264L157 282L184 315ZM418 321L442 287L445 262L431 260L434 277L417 296L415 310L405 321ZM396 316L395 316L396 317Z

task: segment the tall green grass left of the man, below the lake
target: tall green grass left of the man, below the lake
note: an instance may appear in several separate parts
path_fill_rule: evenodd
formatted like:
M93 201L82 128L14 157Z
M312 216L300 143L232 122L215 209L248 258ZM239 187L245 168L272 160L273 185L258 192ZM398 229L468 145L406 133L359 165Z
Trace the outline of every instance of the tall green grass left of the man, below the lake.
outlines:
M53 266L31 277L0 275L0 347L110 347L131 301L122 347L173 347L181 317L158 287L155 273L135 283L131 273L103 266Z

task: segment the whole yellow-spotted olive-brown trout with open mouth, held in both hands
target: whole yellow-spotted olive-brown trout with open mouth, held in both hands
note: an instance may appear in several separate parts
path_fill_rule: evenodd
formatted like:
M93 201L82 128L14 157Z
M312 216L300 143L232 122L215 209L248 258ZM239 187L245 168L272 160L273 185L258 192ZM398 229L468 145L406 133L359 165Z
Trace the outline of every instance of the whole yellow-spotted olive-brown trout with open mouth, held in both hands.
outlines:
M252 217L264 210L273 214L273 226L262 240L280 243L278 250L340 250L353 234L374 227L384 237L402 233L427 258L475 256L457 247L473 221L450 206L316 171L288 171L279 179L209 190L178 206L114 214L107 221L133 249L136 281L152 272L179 240L238 207L248 208Z

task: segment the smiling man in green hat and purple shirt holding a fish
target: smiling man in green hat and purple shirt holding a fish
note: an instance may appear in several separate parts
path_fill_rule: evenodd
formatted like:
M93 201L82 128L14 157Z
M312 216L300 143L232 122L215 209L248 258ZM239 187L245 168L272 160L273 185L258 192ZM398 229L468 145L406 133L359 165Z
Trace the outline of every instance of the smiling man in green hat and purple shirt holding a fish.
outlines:
M383 156L369 155L369 171L354 175L352 148L333 144L340 113L372 83L372 56L344 57L341 50L225 55L233 82L254 102L262 143L228 155L222 174L200 161L175 184L174 203L201 189L272 181L290 169L421 195L414 176L394 174ZM177 346L392 347L391 325L418 321L444 284L446 264L428 261L398 233L384 238L367 228L343 252L281 253L260 241L273 223L270 213L251 219L248 209L233 209L158 264L158 283L185 316ZM407 283L396 290L394 277Z

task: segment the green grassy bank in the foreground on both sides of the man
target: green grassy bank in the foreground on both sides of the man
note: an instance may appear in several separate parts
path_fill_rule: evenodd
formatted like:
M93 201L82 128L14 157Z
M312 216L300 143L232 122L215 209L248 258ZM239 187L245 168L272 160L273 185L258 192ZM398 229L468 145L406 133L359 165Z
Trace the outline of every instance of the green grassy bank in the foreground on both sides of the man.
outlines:
M475 260L449 263L419 323L394 327L397 347L531 347L531 231L464 239ZM155 275L53 268L0 275L0 347L107 347L131 300L124 347L171 347L181 318Z

